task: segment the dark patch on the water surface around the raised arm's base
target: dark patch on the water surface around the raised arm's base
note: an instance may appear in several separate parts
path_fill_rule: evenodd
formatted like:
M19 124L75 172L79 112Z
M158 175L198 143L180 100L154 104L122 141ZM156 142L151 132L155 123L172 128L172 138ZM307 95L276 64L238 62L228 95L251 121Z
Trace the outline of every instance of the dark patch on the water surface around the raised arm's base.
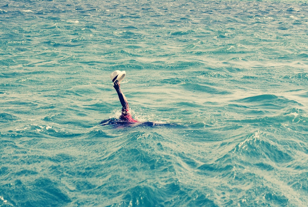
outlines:
M116 118L111 118L111 119L106 119L103 120L99 123L101 126L105 125L112 125L115 128L122 128L122 127L183 127L182 125L179 124L163 124L163 123L155 123L152 121L146 121L146 122L129 122L129 121L124 121Z

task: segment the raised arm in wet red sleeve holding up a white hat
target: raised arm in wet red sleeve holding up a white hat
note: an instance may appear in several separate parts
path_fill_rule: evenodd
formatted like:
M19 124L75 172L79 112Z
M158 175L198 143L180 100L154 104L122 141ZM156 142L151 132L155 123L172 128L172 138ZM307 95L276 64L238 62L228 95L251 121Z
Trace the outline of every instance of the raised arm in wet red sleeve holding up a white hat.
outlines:
M122 104L122 114L120 116L120 120L128 122L138 122L132 118L132 115L129 111L128 101L120 89L120 82L124 79L125 75L126 75L125 71L114 71L110 75L113 82L113 87L115 88L115 91L118 93L120 102Z

